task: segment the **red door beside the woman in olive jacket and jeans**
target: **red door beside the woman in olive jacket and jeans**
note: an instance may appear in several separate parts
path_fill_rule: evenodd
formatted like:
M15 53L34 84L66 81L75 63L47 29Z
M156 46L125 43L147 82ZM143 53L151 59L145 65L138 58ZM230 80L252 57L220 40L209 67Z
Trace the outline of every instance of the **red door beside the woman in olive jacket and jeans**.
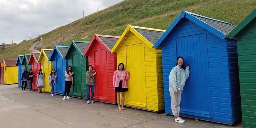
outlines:
M95 61L95 99L96 100L108 100L108 81L107 81L107 54L106 50L94 51Z

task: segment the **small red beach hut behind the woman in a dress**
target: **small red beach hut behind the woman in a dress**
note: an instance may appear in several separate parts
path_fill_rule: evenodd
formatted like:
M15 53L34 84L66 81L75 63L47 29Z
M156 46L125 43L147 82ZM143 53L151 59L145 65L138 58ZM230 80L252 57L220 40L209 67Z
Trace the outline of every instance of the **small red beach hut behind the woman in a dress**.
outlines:
M34 81L32 84L32 90L38 90L36 85L36 77L39 69L41 69L41 63L37 63L37 59L39 58L40 52L31 52L30 58L28 60L28 64L31 65L31 69L35 73Z

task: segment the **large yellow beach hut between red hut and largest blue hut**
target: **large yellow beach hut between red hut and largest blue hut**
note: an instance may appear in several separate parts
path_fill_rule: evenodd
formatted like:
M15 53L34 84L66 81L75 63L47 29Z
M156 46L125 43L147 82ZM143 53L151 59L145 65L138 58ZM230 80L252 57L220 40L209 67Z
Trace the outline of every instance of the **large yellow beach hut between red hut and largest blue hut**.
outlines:
M149 111L164 110L162 51L154 44L165 30L127 25L111 50L117 64L130 71L124 105Z

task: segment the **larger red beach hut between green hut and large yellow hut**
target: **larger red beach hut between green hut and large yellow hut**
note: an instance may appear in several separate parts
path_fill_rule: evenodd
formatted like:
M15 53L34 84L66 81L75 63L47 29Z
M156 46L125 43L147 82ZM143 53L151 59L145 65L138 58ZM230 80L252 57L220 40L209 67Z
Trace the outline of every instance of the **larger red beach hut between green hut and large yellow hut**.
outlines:
M94 100L116 103L116 92L113 87L113 75L117 69L116 53L111 53L110 50L118 39L119 36L93 35L83 54L88 56L89 65L97 72Z

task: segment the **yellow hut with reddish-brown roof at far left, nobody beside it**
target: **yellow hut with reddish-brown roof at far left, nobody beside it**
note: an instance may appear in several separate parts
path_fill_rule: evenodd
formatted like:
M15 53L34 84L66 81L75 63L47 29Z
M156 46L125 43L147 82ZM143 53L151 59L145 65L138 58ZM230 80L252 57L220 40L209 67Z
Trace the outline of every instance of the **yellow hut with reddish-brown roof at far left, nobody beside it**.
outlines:
M18 83L18 66L16 60L3 60L4 84Z

